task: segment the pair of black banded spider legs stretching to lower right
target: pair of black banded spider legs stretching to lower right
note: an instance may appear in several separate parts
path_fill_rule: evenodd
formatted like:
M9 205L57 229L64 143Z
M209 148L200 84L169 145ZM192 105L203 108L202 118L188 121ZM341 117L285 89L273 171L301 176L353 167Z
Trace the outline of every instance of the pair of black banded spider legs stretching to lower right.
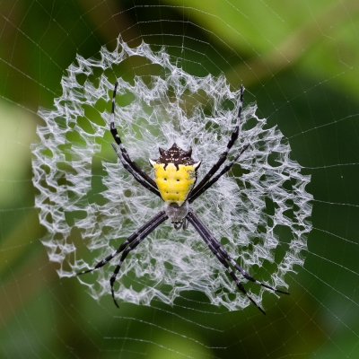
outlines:
M271 287L270 285L266 285L264 283L258 282L258 280L256 280L255 278L253 278L252 276L250 276L250 274L248 272L246 272L242 267L240 267L235 260L223 249L221 243L219 241L217 241L215 239L215 236L209 232L209 230L206 228L206 225L204 223L202 223L202 221L198 218L198 216L192 211L189 210L188 212L188 222L192 223L192 225L196 228L197 232L200 234L200 236L206 241L208 247L212 250L212 248L215 250L215 255L218 258L217 253L221 256L221 258L223 258L224 262L226 263L226 265L223 264L224 267L227 268L228 263L226 261L228 261L229 263L232 264L232 266L237 269L242 276L244 276L246 279L250 280L253 283L256 283L257 285L261 285L269 290L272 290L276 293L283 293L283 294L289 294L287 292L284 291L280 291L278 289L275 289L273 287ZM210 245L208 244L210 243ZM212 250L213 251L213 250ZM223 263L223 261L221 260L221 263ZM244 290L243 285L240 285L236 282L235 278L236 276L234 274L232 274L232 268L229 267L229 269L227 268L228 272L230 273L230 275L232 276L232 279L234 280L234 282L236 283L236 285L239 287L239 289L241 290L242 293L245 293L245 295L250 299L250 302L253 302L260 311L264 312L256 302L254 302L250 296L247 294L247 292ZM238 279L237 279L238 280ZM244 292L243 292L244 290Z

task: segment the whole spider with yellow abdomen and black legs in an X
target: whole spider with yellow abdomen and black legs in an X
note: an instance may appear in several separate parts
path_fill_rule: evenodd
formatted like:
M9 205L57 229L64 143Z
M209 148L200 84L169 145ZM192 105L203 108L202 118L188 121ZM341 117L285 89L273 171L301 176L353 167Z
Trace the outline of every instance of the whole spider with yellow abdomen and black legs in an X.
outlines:
M115 127L115 101L117 88L118 81L116 81L113 90L111 119L109 126L110 132L117 145L113 143L111 143L111 145L117 153L118 159L122 163L125 170L127 170L142 186L144 186L144 188L147 188L154 195L162 198L165 206L162 211L160 211L157 215L154 215L147 223L144 223L142 227L131 234L127 240L118 247L118 250L113 251L111 254L109 254L109 256L103 258L96 264L95 267L77 273L76 276L80 276L103 267L112 258L115 258L119 253L122 252L122 256L118 261L118 266L115 268L112 276L109 279L112 299L115 305L118 307L113 285L116 281L116 277L118 276L118 272L122 266L122 263L127 258L127 255L131 250L135 250L141 241L144 241L144 239L151 232L153 232L155 228L170 218L171 223L176 230L180 230L180 228L186 230L188 228L188 223L191 223L195 227L200 237L202 237L202 239L206 242L206 245L213 252L215 257L223 264L223 267L225 267L229 275L232 277L232 280L237 285L241 293L243 293L250 300L250 302L252 302L258 308L259 311L261 311L263 314L266 314L266 312L258 305L258 303L250 297L249 293L247 293L240 280L234 274L232 267L236 269L241 274L241 276L253 283L256 283L257 285L261 285L276 293L289 293L258 282L258 280L250 276L250 274L242 267L240 267L235 262L235 260L223 249L221 243L215 239L215 236L209 232L206 225L198 218L196 213L189 206L197 199L197 197L201 196L208 188L212 187L215 182L223 176L224 173L230 171L233 163L236 162L241 154L250 146L250 144L246 144L241 149L241 152L234 157L232 162L228 162L226 166L223 167L222 171L216 174L216 172L219 171L220 167L222 166L223 162L225 162L227 159L227 155L231 150L232 145L235 143L239 136L241 109L243 106L243 85L241 85L241 96L237 123L227 144L227 148L222 153L215 165L206 173L206 176L197 184L197 186L195 186L197 182L197 170L201 162L196 162L191 157L191 148L188 151L185 151L182 150L177 144L172 144L171 148L168 150L164 150L160 147L160 157L157 160L149 160L154 170L155 180L153 180L147 173L145 173L136 164L136 162L130 159L125 146L122 144L122 141L118 136L118 130Z

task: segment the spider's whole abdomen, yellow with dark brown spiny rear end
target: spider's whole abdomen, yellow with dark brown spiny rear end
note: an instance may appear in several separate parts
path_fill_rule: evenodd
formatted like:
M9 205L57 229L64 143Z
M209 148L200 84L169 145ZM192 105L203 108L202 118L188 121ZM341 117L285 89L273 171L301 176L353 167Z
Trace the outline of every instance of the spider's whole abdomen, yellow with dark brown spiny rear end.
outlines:
M163 201L182 206L197 180L197 169L201 162L191 158L192 150L184 151L177 144L169 150L160 148L160 158L150 160L154 177Z

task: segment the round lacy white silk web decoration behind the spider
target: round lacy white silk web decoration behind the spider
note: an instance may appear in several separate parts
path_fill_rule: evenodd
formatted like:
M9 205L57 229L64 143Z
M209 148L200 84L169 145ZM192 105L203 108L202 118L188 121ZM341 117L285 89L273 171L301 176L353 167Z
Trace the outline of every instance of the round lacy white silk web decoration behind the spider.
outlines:
M152 177L148 159L175 142L192 147L193 159L202 161L201 180L225 150L236 122L240 89L232 92L223 75L188 74L165 48L154 52L144 43L129 48L118 39L113 52L101 48L96 59L77 57L62 79L55 109L39 110L45 126L38 127L39 143L32 145L36 206L47 229L42 242L59 276L93 267L164 205L123 169L110 145L117 78L118 134ZM290 159L279 129L267 127L256 109L243 109L229 159L243 145L250 147L192 208L251 276L290 292L285 274L302 266L311 231L310 176ZM118 260L78 277L94 298L105 294L110 300L109 277ZM239 277L260 305L267 291ZM209 302L229 310L250 303L191 225L175 231L166 221L127 256L115 295L119 302L149 305L156 298L172 304L183 291L206 293Z

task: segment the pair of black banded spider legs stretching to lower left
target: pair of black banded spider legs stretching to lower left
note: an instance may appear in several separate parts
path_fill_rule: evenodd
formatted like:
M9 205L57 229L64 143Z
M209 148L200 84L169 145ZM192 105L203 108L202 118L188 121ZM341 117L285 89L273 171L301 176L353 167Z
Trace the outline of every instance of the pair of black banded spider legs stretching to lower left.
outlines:
M109 256L106 258L103 258L100 262L96 264L95 267L92 267L91 269L84 270L83 272L77 273L76 276L81 276L85 273L90 273L98 268L103 267L106 263L108 263L112 258L116 257L119 253L121 253L123 250L124 253L122 254L122 257L118 263L118 267L116 267L115 271L113 272L112 276L109 279L109 283L111 285L111 293L113 301L115 302L116 306L118 307L118 303L115 300L115 295L113 292L113 284L116 280L116 276L118 275L118 271L122 265L123 260L127 257L127 254L129 251L136 248L136 246L144 240L150 234L153 232L155 228L157 228L162 222L164 222L166 219L168 219L168 215L164 211L159 212L157 215L154 215L147 223L144 223L143 226L141 226L136 232L132 233L126 241L121 243L121 245L118 247L118 250L113 251ZM128 246L128 247L127 247Z

